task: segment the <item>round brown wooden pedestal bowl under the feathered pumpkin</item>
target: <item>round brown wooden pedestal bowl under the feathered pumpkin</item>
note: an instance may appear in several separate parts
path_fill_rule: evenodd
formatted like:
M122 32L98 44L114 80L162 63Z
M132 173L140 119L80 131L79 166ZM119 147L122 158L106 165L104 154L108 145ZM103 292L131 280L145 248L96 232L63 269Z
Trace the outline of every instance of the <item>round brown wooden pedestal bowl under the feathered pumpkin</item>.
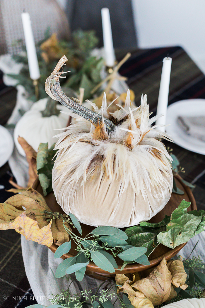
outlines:
M165 217L165 214L170 216L171 213L173 212L173 210L178 207L178 205L180 204L180 202L183 199L186 200L186 201L191 201L191 205L188 207L187 211L197 209L194 196L191 193L191 189L188 186L186 186L185 184L183 184L183 182L180 180L179 176L175 176L175 181L176 181L177 187L180 188L181 190L183 190L184 194L178 195L178 194L172 193L171 198L168 201L168 203L165 205L164 209L162 209L159 213L157 213L154 217L152 217L152 219L150 219L149 222L152 222L152 223L160 222ZM41 185L40 185L40 182L39 182L38 179L34 182L33 188L35 190L37 190L39 193L41 193L41 195L43 196L43 191L42 191L42 188L41 188ZM63 210L61 209L60 205L57 204L57 201L56 201L56 198L55 198L53 192L49 193L45 197L45 201L46 201L48 207L53 212L56 211L56 212L59 212L59 213L64 213ZM81 224L81 228L82 228L82 236L85 237L85 235L88 234L89 232L91 232L95 227ZM77 232L76 229L74 229L73 232L74 233ZM119 270L116 269L115 273L113 273L113 274L110 274L107 271L100 269L93 262L90 262L87 265L87 269L86 269L85 274L89 274L94 278L104 280L104 279L107 279L107 278L114 277L115 274L128 274L128 273L141 272L141 271L144 271L144 270L148 270L152 267L157 266L164 257L166 257L166 260L170 260L185 245L186 245L186 243L175 247L175 249L171 249L171 248L168 248L168 247L160 244L151 253L151 255L148 257L148 260L150 261L150 265L141 265L141 264L138 264L138 263L128 264L128 265L125 266L124 270L119 271ZM48 248L51 251L53 251L53 253L55 253L58 246L53 244ZM69 258L69 257L76 256L77 251L75 249L76 249L76 245L72 241L72 246L71 246L69 253L63 254L61 258L66 259L66 258ZM123 264L123 261L119 257L116 257L116 262L118 264L118 269L120 269L122 264Z

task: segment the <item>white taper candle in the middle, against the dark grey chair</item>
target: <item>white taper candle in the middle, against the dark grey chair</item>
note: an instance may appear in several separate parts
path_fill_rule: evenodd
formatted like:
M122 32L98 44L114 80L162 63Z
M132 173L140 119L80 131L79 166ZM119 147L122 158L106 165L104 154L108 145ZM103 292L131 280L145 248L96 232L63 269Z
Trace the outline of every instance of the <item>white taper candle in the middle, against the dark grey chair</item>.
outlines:
M109 9L106 7L101 9L101 15L102 15L105 62L107 66L114 66L115 52L112 43L112 30L111 30Z

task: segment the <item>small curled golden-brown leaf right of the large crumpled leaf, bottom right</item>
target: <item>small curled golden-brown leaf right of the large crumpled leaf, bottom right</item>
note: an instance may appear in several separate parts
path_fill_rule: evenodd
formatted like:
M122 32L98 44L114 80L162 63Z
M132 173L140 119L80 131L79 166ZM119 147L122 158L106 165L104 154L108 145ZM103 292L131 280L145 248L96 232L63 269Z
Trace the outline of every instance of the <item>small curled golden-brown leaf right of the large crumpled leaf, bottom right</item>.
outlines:
M183 267L183 262L181 260L170 260L167 263L168 270L171 272L172 280L171 283L177 288L185 290L187 285L185 284L187 280L187 274Z

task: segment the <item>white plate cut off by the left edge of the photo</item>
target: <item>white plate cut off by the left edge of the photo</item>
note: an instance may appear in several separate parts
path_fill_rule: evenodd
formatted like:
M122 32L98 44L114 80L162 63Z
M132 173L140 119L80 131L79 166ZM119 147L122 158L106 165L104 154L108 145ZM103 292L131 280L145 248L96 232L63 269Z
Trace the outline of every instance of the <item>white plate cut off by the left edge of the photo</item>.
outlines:
M14 141L10 132L0 125L0 167L9 160L14 149Z

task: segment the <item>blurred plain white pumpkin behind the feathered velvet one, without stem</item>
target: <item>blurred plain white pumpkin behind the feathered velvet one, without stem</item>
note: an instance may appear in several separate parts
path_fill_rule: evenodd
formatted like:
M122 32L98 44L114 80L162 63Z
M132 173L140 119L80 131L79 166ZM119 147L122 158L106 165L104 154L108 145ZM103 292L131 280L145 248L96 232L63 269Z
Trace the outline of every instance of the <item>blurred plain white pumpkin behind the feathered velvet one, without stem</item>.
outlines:
M18 152L23 156L26 156L26 154L18 143L18 136L23 137L37 152L40 143L48 142L48 146L51 147L57 141L53 136L59 133L59 131L55 129L62 128L60 132L63 132L63 129L67 126L68 114L60 112L59 115L42 116L41 111L45 110L47 101L48 98L45 98L34 103L30 110L26 111L16 124L14 142ZM57 109L68 113L68 109L60 104L57 105Z

